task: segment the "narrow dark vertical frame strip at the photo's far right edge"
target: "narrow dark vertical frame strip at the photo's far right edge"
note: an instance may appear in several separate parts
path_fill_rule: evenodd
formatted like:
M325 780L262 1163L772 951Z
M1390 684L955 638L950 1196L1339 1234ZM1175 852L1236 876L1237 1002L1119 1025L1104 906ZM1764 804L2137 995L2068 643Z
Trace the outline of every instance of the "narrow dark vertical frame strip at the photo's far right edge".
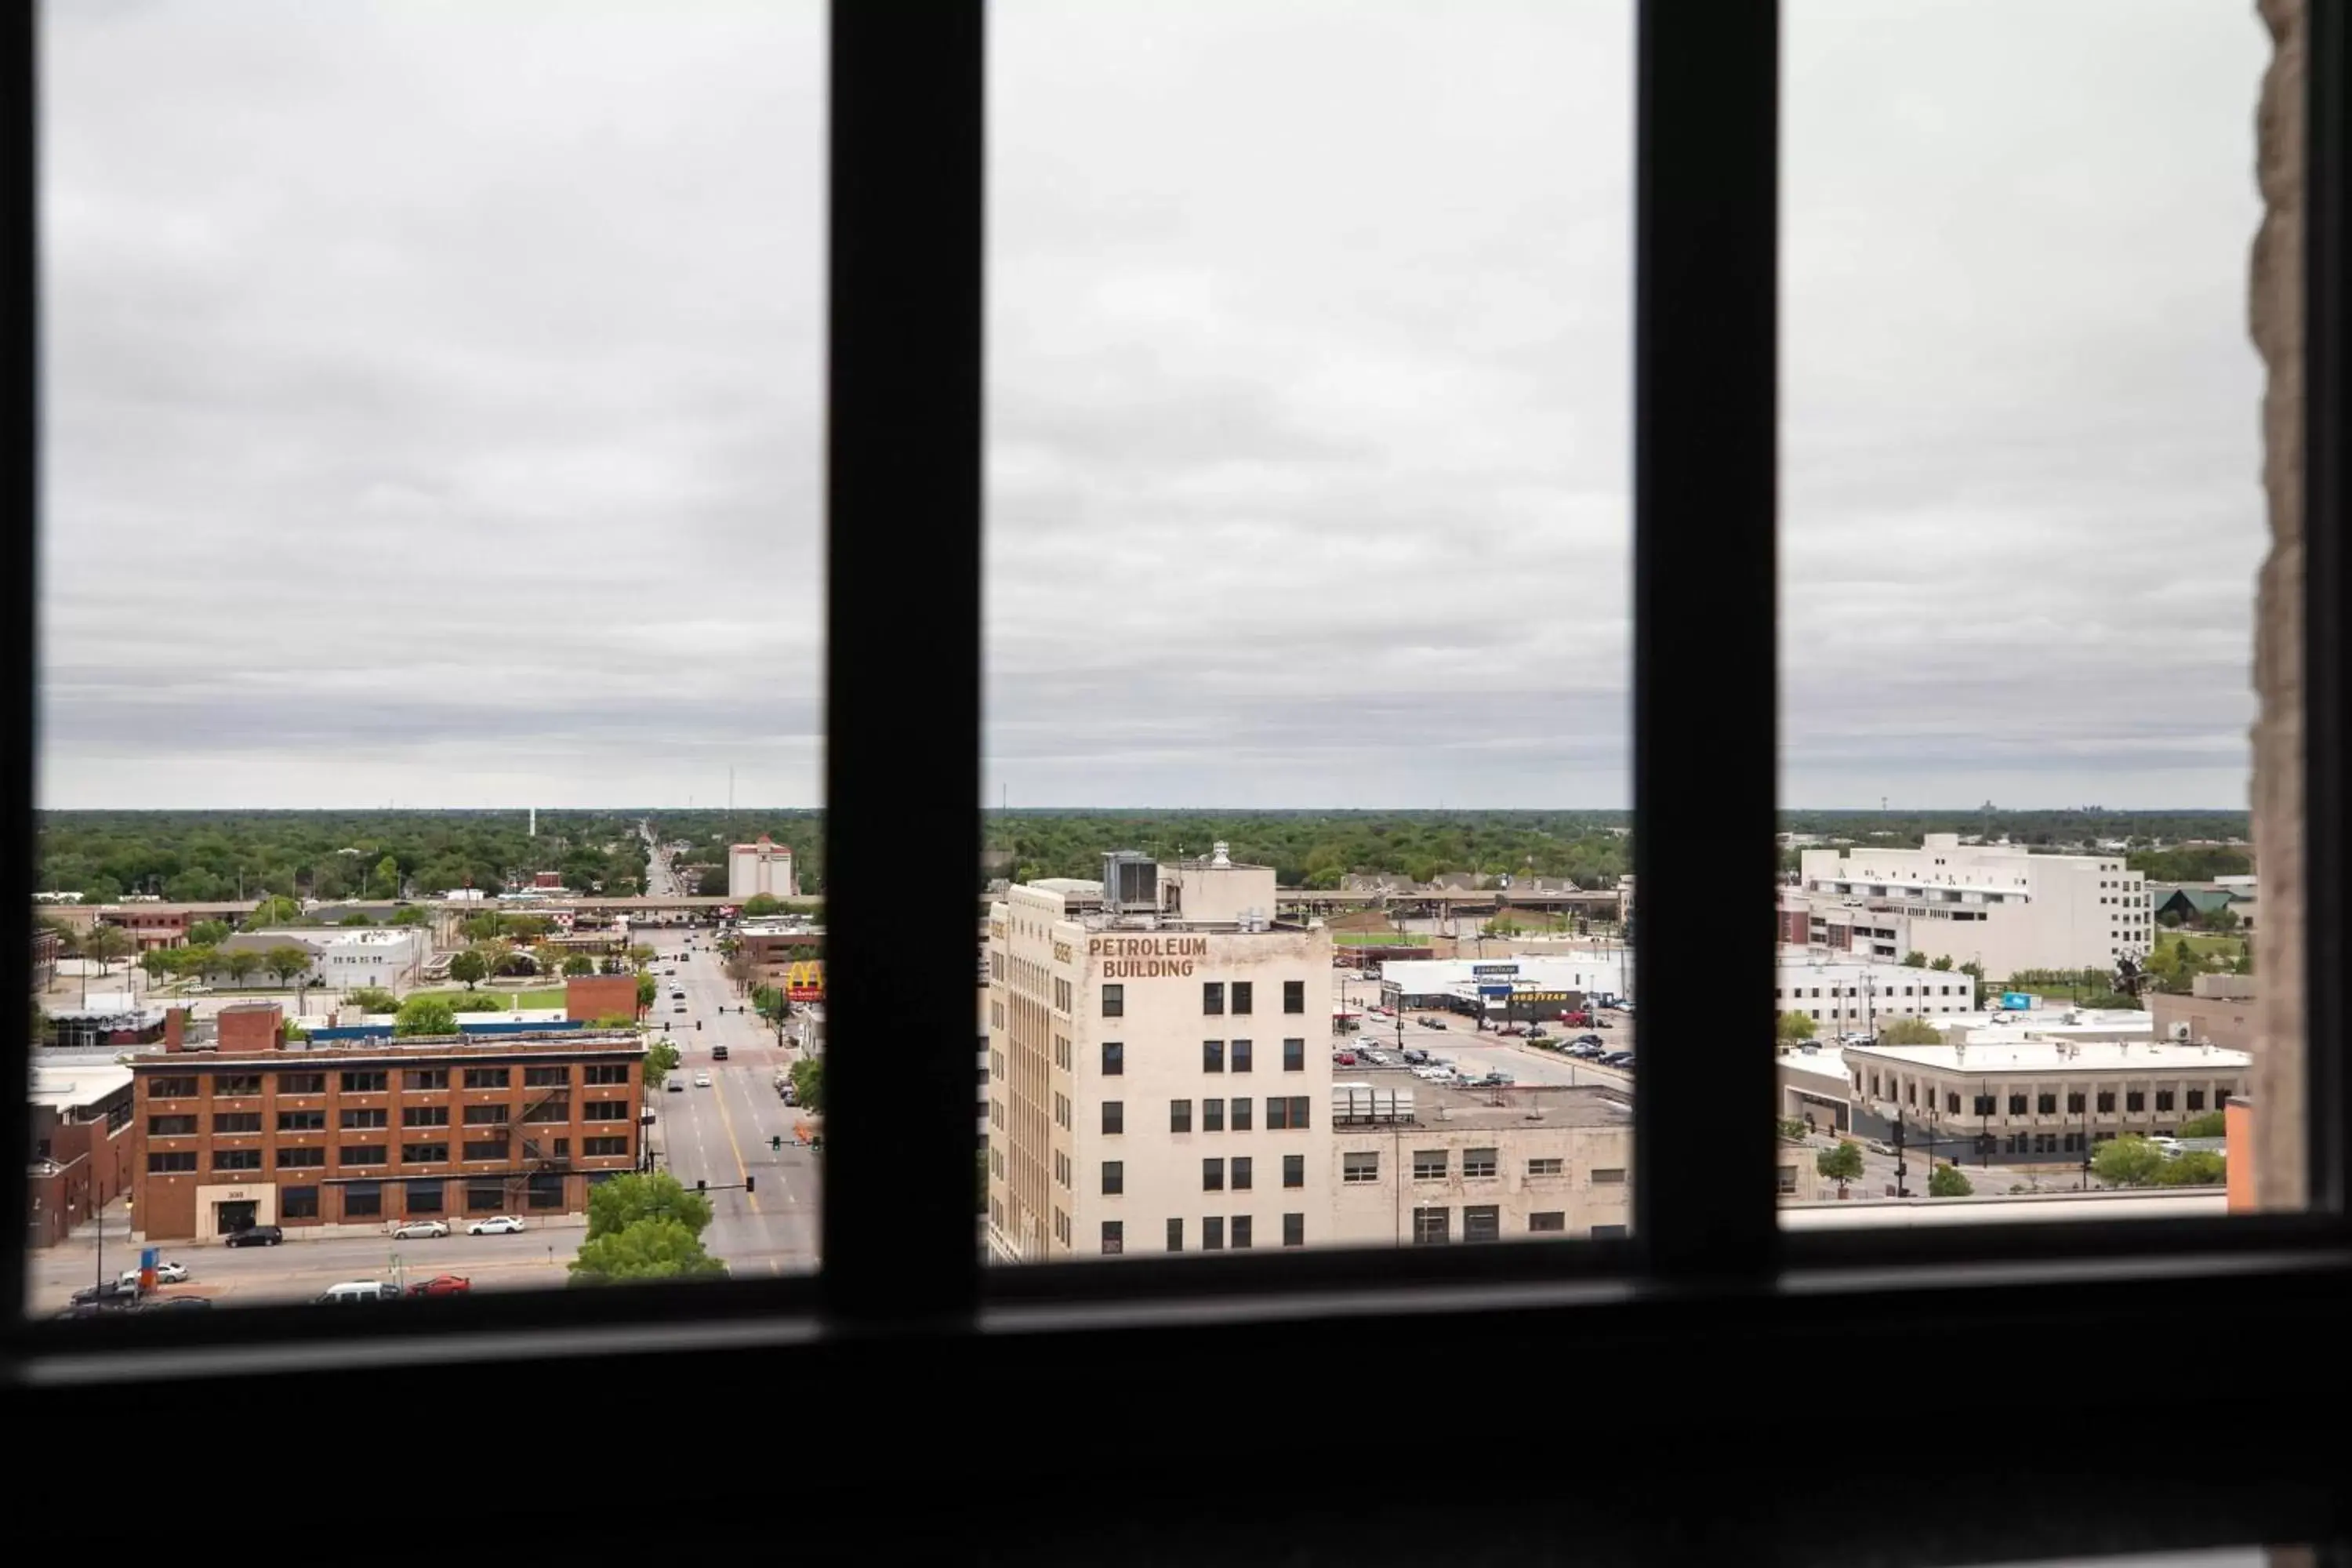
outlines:
M2345 1135L2352 1074L2345 1072L2345 832L2352 741L2352 19L2340 5L2305 9L2303 183L2303 851L2305 851L2305 1110L2310 1206L2347 1211Z

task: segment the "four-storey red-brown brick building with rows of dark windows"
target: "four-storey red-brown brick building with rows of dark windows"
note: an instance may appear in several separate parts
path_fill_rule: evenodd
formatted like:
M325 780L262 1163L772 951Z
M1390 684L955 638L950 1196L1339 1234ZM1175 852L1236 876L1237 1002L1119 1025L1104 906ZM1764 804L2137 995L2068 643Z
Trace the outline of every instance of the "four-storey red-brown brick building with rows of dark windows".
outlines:
M212 1048L132 1063L143 1239L579 1215L637 1168L635 1030L280 1044L275 1013L223 1009Z

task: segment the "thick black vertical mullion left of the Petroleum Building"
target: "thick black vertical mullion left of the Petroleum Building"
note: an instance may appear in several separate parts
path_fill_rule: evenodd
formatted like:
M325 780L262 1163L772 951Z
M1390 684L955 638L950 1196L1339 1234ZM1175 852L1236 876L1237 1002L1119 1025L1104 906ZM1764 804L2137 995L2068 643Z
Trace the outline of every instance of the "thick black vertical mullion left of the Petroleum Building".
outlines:
M969 1312L981 0L833 7L823 1302Z

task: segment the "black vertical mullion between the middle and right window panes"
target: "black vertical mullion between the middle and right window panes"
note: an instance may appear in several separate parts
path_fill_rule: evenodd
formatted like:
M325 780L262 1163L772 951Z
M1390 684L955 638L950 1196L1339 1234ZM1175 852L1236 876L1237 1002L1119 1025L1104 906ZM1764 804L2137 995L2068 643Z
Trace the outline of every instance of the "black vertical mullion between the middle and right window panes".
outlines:
M1670 1281L1778 1251L1778 12L1644 0L1635 66L1635 1237Z

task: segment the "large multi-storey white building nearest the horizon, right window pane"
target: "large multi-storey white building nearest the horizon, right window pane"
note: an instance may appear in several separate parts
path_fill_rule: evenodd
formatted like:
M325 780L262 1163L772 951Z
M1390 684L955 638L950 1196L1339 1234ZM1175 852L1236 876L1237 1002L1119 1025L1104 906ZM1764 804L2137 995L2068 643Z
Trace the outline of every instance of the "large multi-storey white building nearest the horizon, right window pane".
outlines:
M1931 832L1922 849L1809 849L1799 886L1811 912L1830 907L1903 917L1884 943L1931 959L2020 969L2112 969L2147 954L2154 910L2122 856L2037 856L2009 844L1962 844ZM1783 898L1783 940L1792 940ZM1872 957L1886 957L1872 947ZM1903 957L1903 954L1896 954Z

